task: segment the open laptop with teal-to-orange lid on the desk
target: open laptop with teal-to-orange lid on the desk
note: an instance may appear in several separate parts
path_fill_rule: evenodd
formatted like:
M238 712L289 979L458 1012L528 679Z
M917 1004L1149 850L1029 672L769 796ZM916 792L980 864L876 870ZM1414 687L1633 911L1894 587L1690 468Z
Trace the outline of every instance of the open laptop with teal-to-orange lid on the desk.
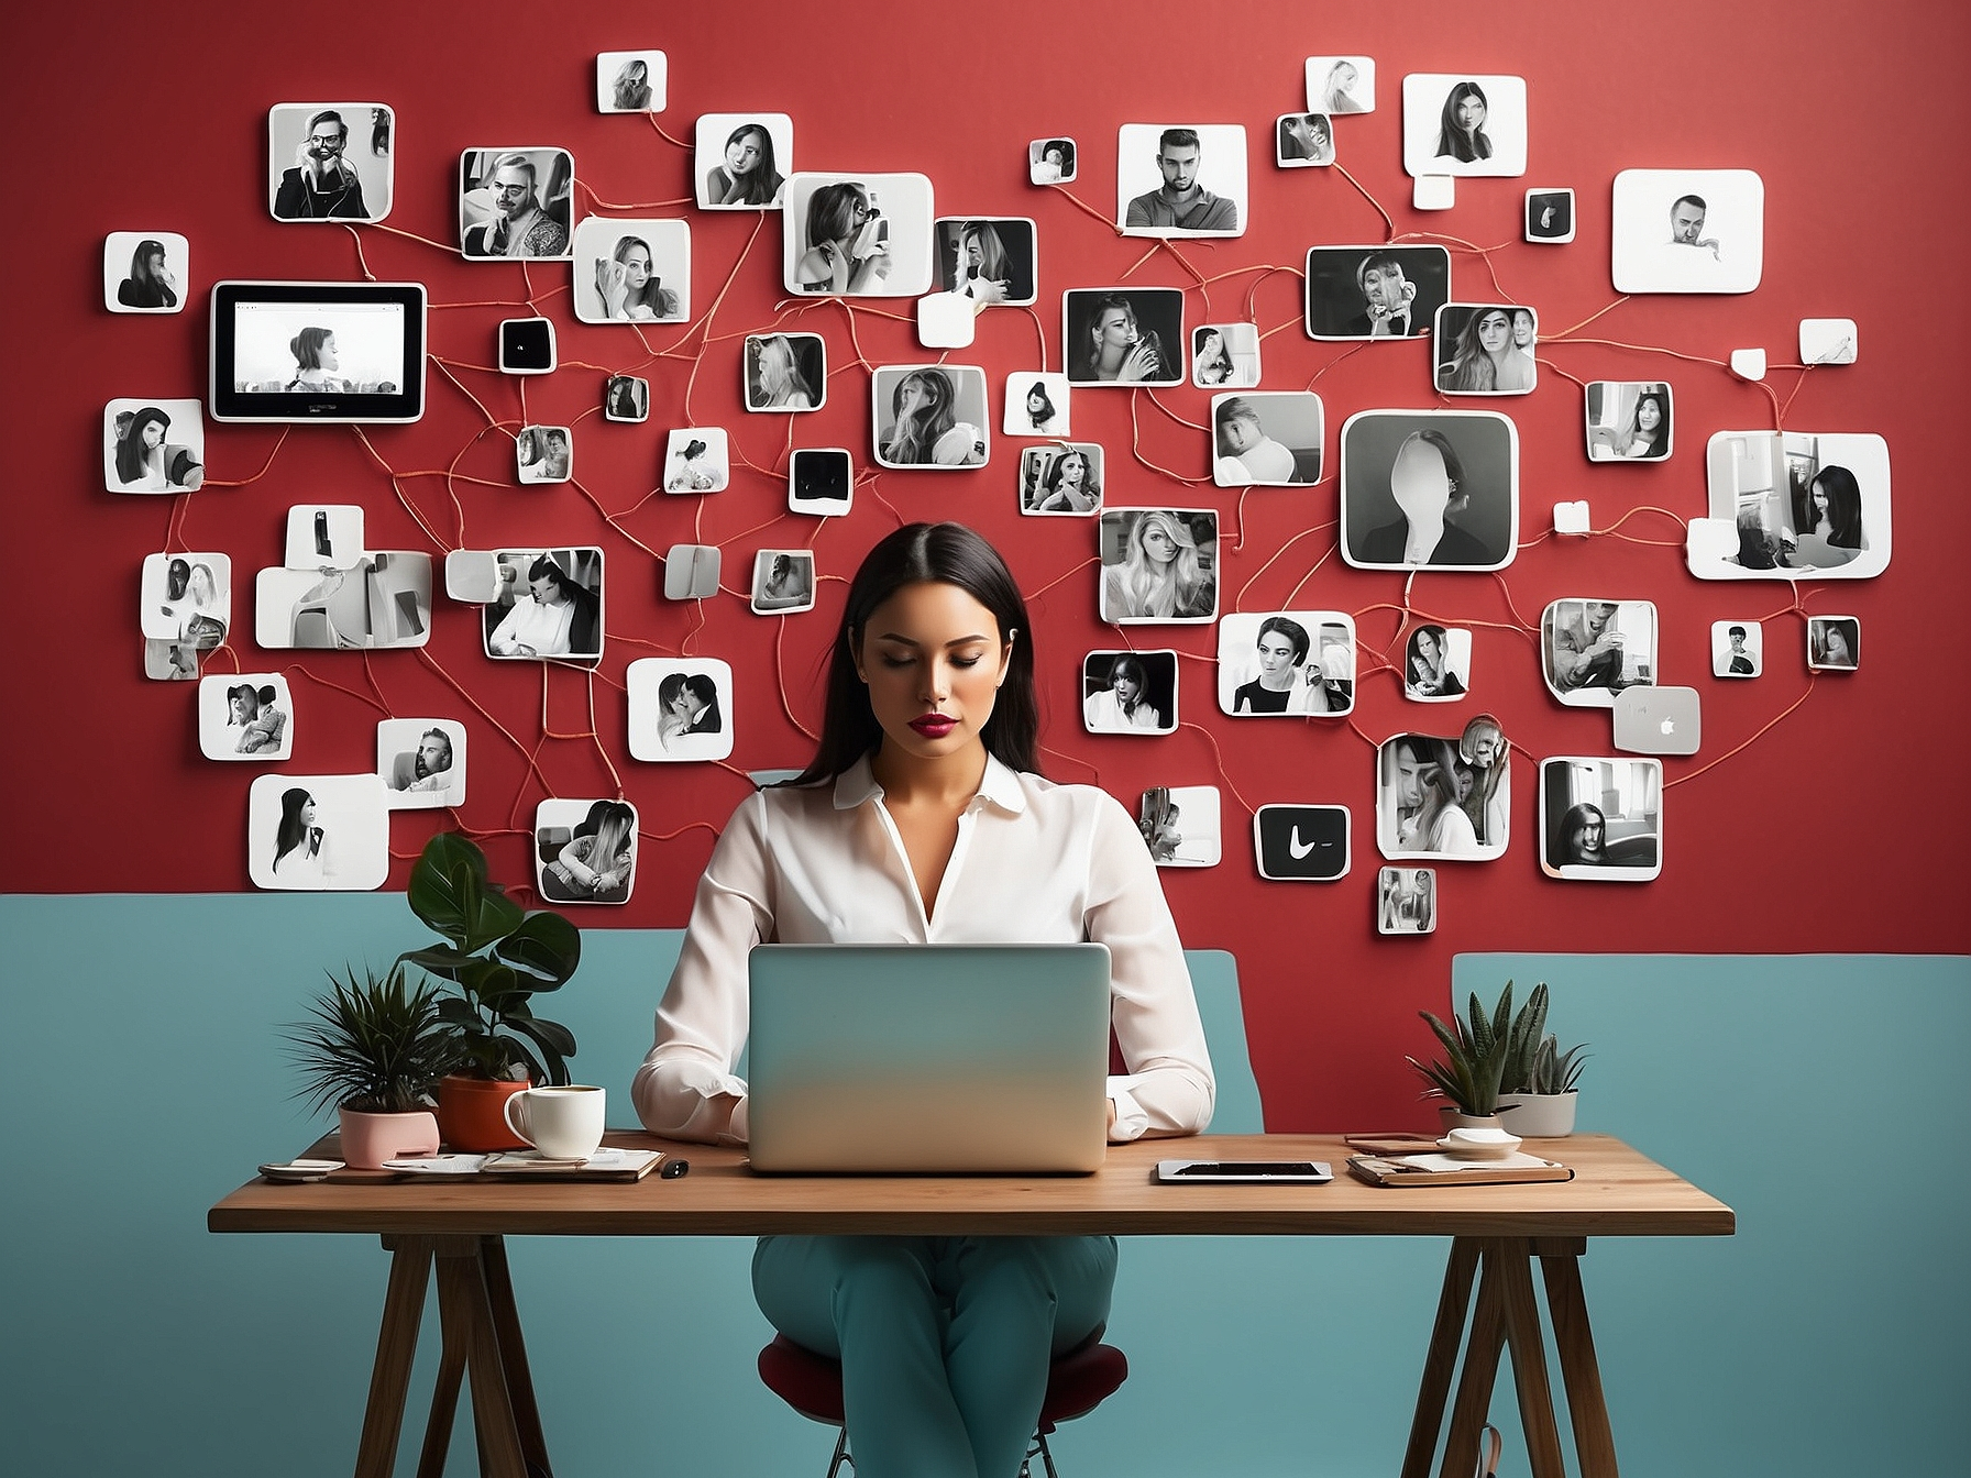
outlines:
M761 944L751 997L755 1171L1102 1165L1104 944Z

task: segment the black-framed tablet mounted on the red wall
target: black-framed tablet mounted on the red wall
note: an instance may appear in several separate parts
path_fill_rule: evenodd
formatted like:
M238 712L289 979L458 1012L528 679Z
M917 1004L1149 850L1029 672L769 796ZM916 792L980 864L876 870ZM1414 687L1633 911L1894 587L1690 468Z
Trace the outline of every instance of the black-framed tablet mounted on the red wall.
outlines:
M424 284L213 284L219 422L424 416Z

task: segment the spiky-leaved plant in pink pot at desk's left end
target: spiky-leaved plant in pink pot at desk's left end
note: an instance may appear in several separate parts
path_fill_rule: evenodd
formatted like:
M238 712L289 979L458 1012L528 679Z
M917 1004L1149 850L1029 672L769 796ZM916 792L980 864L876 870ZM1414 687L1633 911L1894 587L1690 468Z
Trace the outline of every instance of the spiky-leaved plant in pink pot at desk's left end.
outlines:
M402 966L376 979L353 970L317 995L307 1021L288 1033L302 1066L296 1098L319 1113L335 1104L343 1161L374 1171L398 1155L438 1149L432 1086L453 1060L453 1035L440 1019L438 987L410 989Z

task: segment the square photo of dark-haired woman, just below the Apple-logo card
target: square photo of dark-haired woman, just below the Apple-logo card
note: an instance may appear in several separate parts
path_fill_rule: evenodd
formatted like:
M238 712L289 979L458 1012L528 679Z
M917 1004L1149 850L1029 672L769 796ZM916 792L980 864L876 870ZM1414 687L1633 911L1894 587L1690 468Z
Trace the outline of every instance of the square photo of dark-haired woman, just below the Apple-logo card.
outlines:
M1577 883L1648 883L1664 869L1664 763L1539 761L1539 869Z

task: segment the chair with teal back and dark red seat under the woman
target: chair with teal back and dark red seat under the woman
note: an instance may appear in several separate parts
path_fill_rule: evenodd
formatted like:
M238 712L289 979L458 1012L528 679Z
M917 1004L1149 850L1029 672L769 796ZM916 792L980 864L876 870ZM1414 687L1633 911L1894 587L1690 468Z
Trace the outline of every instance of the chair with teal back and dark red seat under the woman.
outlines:
M1218 1100L1210 1127L1220 1133L1259 1133L1259 1082L1252 1070L1246 1046L1246 1015L1238 999L1238 968L1224 950L1187 950L1190 983L1198 999L1198 1019L1204 1023L1204 1042L1212 1052L1212 1074L1218 1078ZM743 1064L741 1064L743 1072ZM808 1421L840 1427L836 1450L828 1460L826 1478L836 1478L842 1464L850 1468L850 1433L842 1417L842 1364L775 1334L773 1344L759 1352L759 1377L769 1391ZM1062 1421L1086 1417L1112 1397L1129 1377L1129 1360L1112 1344L1102 1344L1102 1328L1064 1352L1047 1368L1047 1395L1041 1397L1041 1425L1027 1448L1047 1468L1047 1478L1060 1478L1047 1439ZM1021 1466L1027 1478L1027 1464Z

